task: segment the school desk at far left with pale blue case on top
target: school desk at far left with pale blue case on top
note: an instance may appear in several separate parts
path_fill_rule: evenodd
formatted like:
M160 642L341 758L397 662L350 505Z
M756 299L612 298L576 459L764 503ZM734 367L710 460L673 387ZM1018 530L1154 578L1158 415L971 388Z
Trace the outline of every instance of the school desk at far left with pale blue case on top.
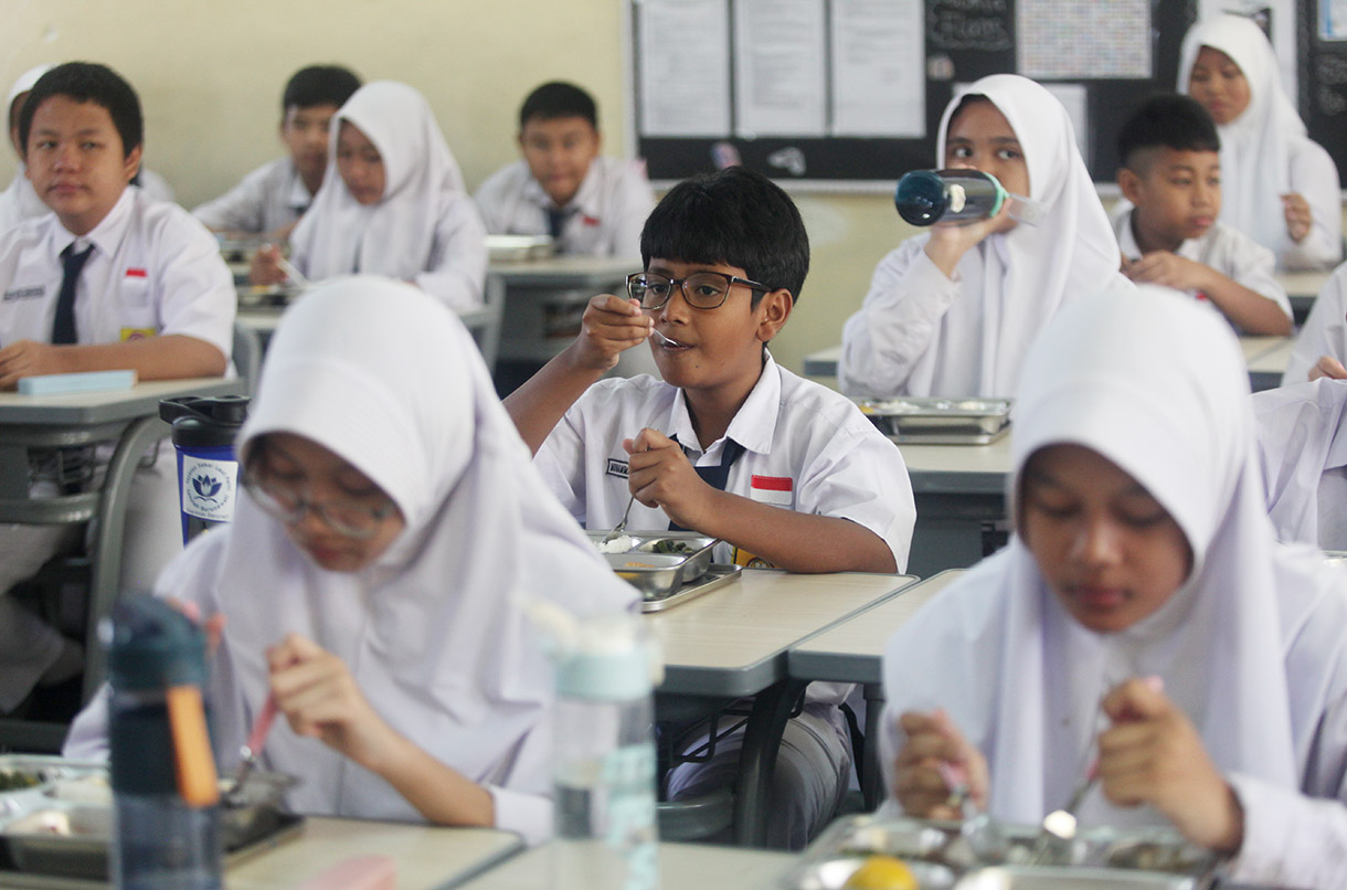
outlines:
M89 540L92 578L85 640L85 697L104 677L98 619L117 598L127 500L136 463L168 434L159 419L159 400L174 396L222 396L242 392L237 380L162 380L131 389L20 396L0 393L0 522L78 524L97 520ZM116 442L102 486L93 491L28 497L28 448ZM171 446L162 446L171 447ZM0 722L0 734L11 727Z

